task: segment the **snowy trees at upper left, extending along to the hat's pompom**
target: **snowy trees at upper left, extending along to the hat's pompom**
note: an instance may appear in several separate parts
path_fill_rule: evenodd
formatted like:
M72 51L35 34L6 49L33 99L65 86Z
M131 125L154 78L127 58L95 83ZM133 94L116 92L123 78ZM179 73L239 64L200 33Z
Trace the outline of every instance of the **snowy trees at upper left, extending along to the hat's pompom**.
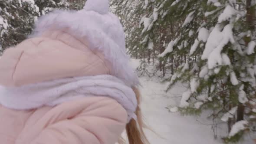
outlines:
M0 52L20 43L32 30L39 16L54 9L81 10L86 0L1 0Z

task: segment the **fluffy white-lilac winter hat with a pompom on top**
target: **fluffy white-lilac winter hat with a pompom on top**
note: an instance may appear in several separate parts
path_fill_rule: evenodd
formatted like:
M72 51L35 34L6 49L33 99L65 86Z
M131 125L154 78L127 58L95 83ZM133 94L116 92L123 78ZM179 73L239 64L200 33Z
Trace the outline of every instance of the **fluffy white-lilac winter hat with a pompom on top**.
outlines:
M128 64L123 27L118 17L109 12L108 0L87 0L83 10L56 10L42 16L32 36L65 28L69 28L68 33L73 36L85 37L90 49L101 51L112 64L112 75L127 85L138 85L137 75Z

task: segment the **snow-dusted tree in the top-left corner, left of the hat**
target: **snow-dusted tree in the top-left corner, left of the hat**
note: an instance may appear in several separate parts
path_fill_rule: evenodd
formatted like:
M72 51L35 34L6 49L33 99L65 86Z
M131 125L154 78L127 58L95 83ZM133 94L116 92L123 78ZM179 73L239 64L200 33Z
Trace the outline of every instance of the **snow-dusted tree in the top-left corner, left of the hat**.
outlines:
M0 51L26 38L40 16L33 0L0 1Z

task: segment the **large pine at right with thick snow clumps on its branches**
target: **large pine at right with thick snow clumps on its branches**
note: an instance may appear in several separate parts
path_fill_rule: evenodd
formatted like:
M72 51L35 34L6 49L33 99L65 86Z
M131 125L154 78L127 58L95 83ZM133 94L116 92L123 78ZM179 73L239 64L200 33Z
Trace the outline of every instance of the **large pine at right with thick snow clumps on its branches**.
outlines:
M190 26L195 26L197 36L189 45L190 51L185 52L186 64L177 69L169 88L178 80L187 82L190 88L182 96L181 111L194 113L210 108L213 121L220 118L228 124L229 135L223 138L224 142L236 142L255 126L255 3L200 3L186 18L191 20ZM197 17L201 20L195 20Z

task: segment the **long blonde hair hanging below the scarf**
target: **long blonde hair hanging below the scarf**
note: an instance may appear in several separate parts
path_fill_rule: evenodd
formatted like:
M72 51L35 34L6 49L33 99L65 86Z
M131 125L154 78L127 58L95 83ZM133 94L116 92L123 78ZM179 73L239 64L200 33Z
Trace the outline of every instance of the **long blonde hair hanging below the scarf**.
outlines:
M138 88L133 87L132 89L136 94L136 98L138 100L138 105L139 105L141 102L140 101L141 94ZM126 132L127 132L129 144L149 144L149 141L143 131L144 123L141 115L141 109L139 108L139 106L137 107L135 114L137 115L137 121L132 119L126 125Z

